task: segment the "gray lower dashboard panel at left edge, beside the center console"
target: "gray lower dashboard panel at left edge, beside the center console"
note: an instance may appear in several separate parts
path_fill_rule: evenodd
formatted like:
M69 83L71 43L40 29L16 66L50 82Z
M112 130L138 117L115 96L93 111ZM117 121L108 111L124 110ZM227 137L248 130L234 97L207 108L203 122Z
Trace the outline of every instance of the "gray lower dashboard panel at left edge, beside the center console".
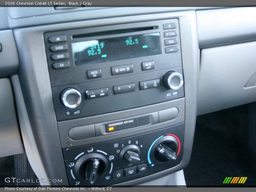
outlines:
M24 153L10 79L0 79L0 157Z

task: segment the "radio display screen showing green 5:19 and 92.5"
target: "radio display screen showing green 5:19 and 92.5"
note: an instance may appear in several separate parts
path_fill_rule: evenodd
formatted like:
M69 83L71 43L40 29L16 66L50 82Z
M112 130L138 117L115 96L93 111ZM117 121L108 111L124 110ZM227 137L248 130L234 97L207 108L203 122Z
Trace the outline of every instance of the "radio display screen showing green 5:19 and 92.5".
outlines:
M160 33L72 43L76 66L162 54Z

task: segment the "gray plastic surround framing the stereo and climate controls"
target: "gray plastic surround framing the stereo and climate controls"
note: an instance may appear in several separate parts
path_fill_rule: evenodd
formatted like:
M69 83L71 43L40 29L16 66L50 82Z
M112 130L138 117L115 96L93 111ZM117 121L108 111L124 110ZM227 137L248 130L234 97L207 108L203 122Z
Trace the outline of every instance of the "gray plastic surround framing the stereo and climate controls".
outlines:
M125 8L127 9L127 8ZM147 8L148 9L148 8ZM104 9L103 9L104 10ZM129 10L133 10L129 9ZM81 17L82 18L82 17ZM198 36L195 11L145 14L143 17L116 17L102 20L88 20L72 23L14 29L20 56L20 83L26 103L28 117L36 138L36 145L44 170L49 178L62 178L67 184L64 160L61 153L56 116L54 113L51 84L47 68L43 34L46 31L82 28L96 25L111 25L147 20L178 18L185 89L185 134L183 158L180 165L145 178L126 182L127 185L154 180L187 166L193 145L196 124L198 88ZM187 83L186 83L187 82ZM116 117L118 118L118 117ZM34 169L35 167L33 167Z

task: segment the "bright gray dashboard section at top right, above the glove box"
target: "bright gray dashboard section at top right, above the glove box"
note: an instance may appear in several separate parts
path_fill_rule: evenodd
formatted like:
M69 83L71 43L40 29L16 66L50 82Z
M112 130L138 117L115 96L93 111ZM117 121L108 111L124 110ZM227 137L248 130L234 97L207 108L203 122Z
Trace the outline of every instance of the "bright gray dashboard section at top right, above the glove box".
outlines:
M199 48L256 40L256 7L196 11Z

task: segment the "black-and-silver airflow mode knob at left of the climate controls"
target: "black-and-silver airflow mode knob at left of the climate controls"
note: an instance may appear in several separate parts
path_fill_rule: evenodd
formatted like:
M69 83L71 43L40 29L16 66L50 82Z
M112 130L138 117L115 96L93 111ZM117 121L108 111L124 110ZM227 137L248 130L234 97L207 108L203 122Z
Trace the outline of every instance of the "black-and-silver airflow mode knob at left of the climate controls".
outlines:
M80 175L84 180L90 184L104 175L108 169L108 160L106 157L92 153L82 156L75 164L75 174Z

